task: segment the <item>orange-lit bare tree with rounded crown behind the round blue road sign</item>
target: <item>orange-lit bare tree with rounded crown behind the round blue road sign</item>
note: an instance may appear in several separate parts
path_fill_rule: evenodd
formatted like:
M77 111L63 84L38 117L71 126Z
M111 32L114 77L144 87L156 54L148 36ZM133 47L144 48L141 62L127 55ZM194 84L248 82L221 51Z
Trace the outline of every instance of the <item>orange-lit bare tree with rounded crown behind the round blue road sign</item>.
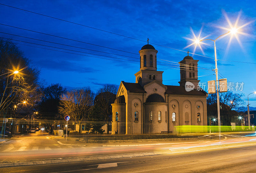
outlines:
M88 118L92 109L94 93L90 88L71 90L61 96L59 113L69 115L79 125L81 132L81 122Z

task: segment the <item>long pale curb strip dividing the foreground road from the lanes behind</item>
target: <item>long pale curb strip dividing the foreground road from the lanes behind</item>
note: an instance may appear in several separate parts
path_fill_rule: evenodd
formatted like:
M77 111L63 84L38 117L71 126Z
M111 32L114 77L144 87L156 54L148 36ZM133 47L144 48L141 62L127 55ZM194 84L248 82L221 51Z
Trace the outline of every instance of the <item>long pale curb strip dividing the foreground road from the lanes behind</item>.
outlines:
M53 164L53 163L67 163L67 162L81 162L81 161L91 161L91 160L106 160L106 159L116 159L125 157L140 157L148 155L162 155L170 154L170 151L165 152L148 152L148 153L130 153L126 155L99 155L96 157L83 157L83 158L71 158L71 159L58 159L58 160L47 160L47 161L33 161L33 162L17 162L13 163L0 163L0 167L10 167L10 166L25 166L25 165L41 165L41 164Z

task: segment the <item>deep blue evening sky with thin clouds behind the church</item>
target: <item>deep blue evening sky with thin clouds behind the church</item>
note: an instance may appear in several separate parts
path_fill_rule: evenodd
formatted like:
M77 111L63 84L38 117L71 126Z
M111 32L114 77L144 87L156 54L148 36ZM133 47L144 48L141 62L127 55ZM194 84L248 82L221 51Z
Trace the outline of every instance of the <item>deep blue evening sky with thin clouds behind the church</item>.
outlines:
M105 83L117 84L123 80L125 82L135 82L134 74L139 71L139 53L140 48L146 44L147 38L149 42L158 50L158 58L168 61L179 62L185 52L173 50L166 47L172 47L179 50L193 52L194 47L183 49L191 43L184 37L192 38L190 27L197 35L202 26L201 35L204 37L211 34L208 38L215 39L226 31L216 27L216 25L228 27L228 23L223 16L222 11L226 11L232 23L235 22L240 10L242 10L239 25L243 25L249 21L255 20L255 5L253 1L12 1L3 0L2 4L14 6L17 8L34 11L37 13L49 15L56 18L72 21L75 23L91 26L109 32L118 33L128 37L136 38L139 41L127 37L102 32L92 28L75 25L64 21L47 18L37 14L21 11L11 7L0 5L1 24L16 26L37 32L43 32L73 40L79 40L91 44L100 45L93 46L81 42L56 38L40 33L29 32L16 29L4 25L0 25L1 32L11 33L15 35L46 40L60 44L72 45L86 49L98 50L112 54L100 53L95 51L84 50L81 48L68 47L47 43L38 40L21 38L18 36L0 33L1 37L15 40L22 40L37 44L48 45L52 47L61 47L92 54L101 54L117 58L130 59L110 61L99 58L93 58L83 55L68 54L45 50L35 47L18 45L31 63L41 70L40 80L46 85L51 83L61 83L68 88L90 86L96 91ZM243 28L243 32L250 36L239 35L239 39L243 45L240 47L234 38L231 41L230 48L226 52L229 36L216 42L217 57L222 60L255 62L256 44L255 44L255 22ZM16 43L21 43L14 41ZM154 44L166 46L161 47ZM196 49L196 54L207 57L214 57L212 42L203 46L204 54L200 49ZM32 45L28 43L21 43ZM35 45L34 45L35 46ZM37 47L44 47L38 46ZM110 47L122 51L108 49ZM47 47L45 47L47 48ZM49 47L48 47L49 48ZM50 48L56 49L56 48ZM60 50L60 49L56 49ZM63 51L63 50L62 50ZM72 52L72 51L67 51ZM77 53L77 52L73 52ZM131 54L133 53L133 54ZM77 53L84 54L84 53ZM89 54L84 54L89 55ZM102 57L98 55L90 55ZM133 57L133 58L131 58ZM105 57L107 58L107 57ZM137 58L137 59L136 59ZM199 60L198 67L214 68L213 59L193 55L194 59ZM113 59L113 58L109 58ZM167 61L165 61L167 62ZM171 63L171 62L170 62ZM170 66L158 66L157 70L164 71L163 83L166 85L179 85L180 71ZM256 64L237 63L230 61L218 61L220 73L228 78L230 82L244 82L243 93L247 99L250 92L256 90ZM214 80L215 76L204 76L213 74L210 70L198 72L201 82ZM240 91L241 92L241 91ZM250 95L251 105L256 107L256 97Z

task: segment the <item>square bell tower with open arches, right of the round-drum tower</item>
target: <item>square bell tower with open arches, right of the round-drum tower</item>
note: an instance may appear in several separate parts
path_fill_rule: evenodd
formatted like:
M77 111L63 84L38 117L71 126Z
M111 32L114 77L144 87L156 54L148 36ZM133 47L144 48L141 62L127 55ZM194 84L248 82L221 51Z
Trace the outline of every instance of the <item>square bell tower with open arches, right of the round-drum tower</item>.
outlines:
M185 56L182 61L180 61L180 86L185 87L186 82L191 82L195 85L195 88L198 86L198 71L197 71L197 62L191 56Z

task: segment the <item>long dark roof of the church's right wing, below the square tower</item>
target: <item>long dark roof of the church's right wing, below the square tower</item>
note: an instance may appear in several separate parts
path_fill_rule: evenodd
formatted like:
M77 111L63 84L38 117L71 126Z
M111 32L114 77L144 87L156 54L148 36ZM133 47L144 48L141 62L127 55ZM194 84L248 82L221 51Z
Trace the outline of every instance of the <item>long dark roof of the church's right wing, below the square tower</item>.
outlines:
M207 92L204 90L198 91L196 89L191 91L186 91L184 86L173 86L173 85L165 85L167 86L166 94L179 94L179 95L198 95L198 96L206 96Z

